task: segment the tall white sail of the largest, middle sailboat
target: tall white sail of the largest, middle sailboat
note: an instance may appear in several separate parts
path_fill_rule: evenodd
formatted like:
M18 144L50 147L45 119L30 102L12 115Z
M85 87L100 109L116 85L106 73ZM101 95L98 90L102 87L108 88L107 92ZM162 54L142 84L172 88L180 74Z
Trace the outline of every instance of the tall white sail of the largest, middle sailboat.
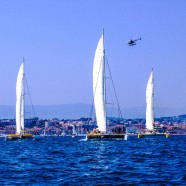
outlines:
M98 129L106 132L106 108L105 108L105 60L104 60L104 34L102 34L94 57L93 64L93 94L94 106Z

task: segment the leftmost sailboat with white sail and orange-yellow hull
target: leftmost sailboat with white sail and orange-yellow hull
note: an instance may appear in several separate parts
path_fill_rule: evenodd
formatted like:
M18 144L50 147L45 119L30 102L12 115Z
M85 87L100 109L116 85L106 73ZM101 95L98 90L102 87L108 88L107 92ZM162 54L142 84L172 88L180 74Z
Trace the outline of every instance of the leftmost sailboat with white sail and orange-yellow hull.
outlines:
M24 61L21 64L16 82L16 134L6 135L6 139L22 139L34 138L33 134L25 133L24 119L25 119L25 74L24 74Z

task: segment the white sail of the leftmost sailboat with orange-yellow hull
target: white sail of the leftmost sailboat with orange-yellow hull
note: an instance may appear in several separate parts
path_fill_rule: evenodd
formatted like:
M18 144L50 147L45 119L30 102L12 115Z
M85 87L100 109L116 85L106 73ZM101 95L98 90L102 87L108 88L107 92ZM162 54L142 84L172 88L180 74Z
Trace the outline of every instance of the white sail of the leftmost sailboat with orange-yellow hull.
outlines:
M24 130L24 63L21 64L16 83L16 133Z

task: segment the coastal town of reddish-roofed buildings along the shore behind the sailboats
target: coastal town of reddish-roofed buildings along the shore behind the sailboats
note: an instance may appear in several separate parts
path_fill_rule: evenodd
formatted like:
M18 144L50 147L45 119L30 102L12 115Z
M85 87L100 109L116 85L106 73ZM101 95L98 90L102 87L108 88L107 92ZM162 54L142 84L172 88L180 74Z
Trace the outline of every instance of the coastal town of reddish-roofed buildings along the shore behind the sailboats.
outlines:
M126 132L135 135L145 132L145 119L108 118L107 127L111 132ZM154 126L159 132L174 135L186 134L186 115L155 118ZM87 131L97 128L96 120L80 119L39 119L38 117L25 119L25 131L44 136L86 135ZM16 133L15 119L0 120L0 136Z

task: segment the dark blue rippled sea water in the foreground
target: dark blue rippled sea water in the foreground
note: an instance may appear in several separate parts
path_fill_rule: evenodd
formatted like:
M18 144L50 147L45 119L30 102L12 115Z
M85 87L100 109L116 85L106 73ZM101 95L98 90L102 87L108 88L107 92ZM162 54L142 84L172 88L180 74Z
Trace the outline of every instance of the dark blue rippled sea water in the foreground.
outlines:
M186 136L81 138L1 138L0 185L186 185Z

